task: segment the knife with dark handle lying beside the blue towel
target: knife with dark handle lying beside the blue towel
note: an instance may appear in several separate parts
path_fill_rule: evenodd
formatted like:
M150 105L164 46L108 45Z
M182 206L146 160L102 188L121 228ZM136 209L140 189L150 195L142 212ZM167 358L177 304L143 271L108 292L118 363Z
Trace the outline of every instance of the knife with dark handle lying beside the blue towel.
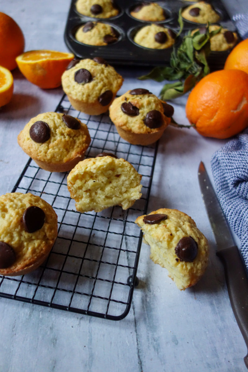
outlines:
M248 348L248 277L238 247L210 182L203 162L198 169L203 202L216 240L216 254L222 260L233 314ZM244 357L248 368L248 353Z

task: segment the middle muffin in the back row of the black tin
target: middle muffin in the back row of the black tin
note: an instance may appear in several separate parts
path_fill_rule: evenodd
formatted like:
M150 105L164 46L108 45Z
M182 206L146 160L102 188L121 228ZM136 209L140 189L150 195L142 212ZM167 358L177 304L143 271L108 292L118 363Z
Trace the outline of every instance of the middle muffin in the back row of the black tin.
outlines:
M141 3L130 12L131 16L148 22L158 22L166 19L165 10L157 3Z

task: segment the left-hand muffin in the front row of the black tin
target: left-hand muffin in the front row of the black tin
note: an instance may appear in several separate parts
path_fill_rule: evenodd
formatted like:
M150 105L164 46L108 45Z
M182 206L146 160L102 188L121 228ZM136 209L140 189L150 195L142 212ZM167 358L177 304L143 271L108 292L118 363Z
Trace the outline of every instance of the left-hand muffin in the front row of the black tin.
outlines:
M75 33L75 39L87 45L106 46L113 44L119 38L119 32L103 22L87 22Z

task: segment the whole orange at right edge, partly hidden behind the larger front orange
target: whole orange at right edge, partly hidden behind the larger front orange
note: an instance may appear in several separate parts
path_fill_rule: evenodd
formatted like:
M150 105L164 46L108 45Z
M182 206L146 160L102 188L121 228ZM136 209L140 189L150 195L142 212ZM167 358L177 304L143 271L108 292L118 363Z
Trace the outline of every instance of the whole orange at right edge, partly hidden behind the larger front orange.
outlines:
M224 70L242 70L248 74L248 39L241 41L226 58Z

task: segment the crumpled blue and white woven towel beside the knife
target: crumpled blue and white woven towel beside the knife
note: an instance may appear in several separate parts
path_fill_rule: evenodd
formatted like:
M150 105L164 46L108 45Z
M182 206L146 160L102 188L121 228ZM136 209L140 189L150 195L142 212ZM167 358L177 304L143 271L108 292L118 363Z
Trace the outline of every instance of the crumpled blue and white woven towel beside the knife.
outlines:
M248 268L248 129L213 154L211 167L220 205L241 240Z

